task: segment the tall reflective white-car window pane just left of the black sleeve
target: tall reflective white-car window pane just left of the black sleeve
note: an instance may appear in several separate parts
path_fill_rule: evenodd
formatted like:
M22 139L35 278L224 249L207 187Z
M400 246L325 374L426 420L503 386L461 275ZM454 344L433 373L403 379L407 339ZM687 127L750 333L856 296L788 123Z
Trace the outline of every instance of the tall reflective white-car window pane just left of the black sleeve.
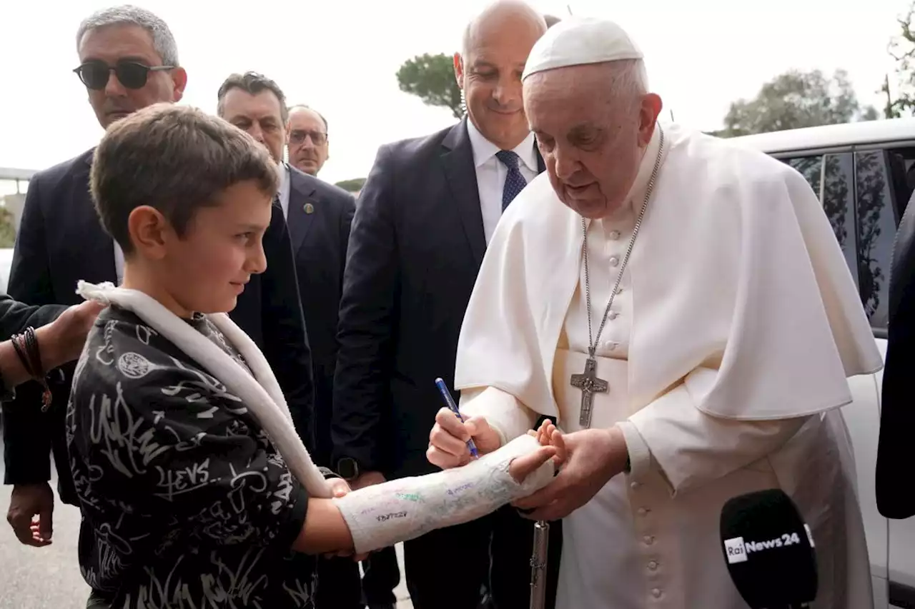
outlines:
M858 222L858 272L861 301L870 325L887 327L889 265L896 238L887 155L882 150L855 154Z

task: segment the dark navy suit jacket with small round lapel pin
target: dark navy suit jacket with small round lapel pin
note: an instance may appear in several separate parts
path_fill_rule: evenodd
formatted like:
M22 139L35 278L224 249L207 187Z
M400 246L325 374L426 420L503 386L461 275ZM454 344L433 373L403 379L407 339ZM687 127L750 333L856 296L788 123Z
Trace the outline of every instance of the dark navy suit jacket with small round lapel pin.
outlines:
M330 413L337 366L337 318L350 224L356 201L295 167L289 168L286 224L296 259L298 291L315 374L315 459L330 461Z

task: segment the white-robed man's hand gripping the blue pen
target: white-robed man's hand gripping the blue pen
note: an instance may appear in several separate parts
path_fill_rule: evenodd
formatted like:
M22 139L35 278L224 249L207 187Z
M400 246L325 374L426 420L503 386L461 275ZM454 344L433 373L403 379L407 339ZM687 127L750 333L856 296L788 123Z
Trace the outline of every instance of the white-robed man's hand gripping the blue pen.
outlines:
M479 454L499 448L501 440L496 430L486 422L486 417L472 417L460 422L454 412L443 408L436 414L436 424L429 433L429 448L425 456L432 465L450 469L470 462L467 441L473 438Z

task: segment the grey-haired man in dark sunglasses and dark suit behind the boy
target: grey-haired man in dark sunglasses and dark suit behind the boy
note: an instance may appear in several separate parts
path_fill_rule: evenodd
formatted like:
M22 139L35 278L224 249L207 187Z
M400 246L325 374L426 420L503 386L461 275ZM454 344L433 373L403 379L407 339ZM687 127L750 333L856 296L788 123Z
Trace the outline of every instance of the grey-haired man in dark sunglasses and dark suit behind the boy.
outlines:
M102 127L157 102L178 102L188 81L167 24L135 6L103 9L84 20L77 50L80 66L74 71ZM74 305L81 302L76 294L81 279L121 282L124 254L102 230L90 196L92 153L39 172L30 181L8 284L17 300ZM136 167L136 179L144 179L142 166ZM264 350L296 421L310 422L311 354L292 244L278 206L264 234L264 254L267 271L252 277L231 317ZM54 397L47 412L36 406L38 391L27 391L27 386L20 388L18 403L4 406L5 484L13 485L7 519L19 539L29 543L32 518L38 516L40 539L31 545L47 545L51 539L52 451L60 498L73 505L77 501L64 436L71 375L72 367L52 384ZM301 433L311 435L310 430ZM81 530L81 549L92 545L93 535Z

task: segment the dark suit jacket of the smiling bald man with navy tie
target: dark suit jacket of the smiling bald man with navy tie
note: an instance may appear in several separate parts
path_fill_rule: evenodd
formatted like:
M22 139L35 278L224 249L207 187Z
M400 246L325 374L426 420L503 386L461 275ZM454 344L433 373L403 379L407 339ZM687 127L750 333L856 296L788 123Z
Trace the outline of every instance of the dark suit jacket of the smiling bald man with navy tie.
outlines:
M486 251L466 121L382 146L362 188L340 302L335 463L395 477L435 470L425 459L443 406L435 379L453 388Z

